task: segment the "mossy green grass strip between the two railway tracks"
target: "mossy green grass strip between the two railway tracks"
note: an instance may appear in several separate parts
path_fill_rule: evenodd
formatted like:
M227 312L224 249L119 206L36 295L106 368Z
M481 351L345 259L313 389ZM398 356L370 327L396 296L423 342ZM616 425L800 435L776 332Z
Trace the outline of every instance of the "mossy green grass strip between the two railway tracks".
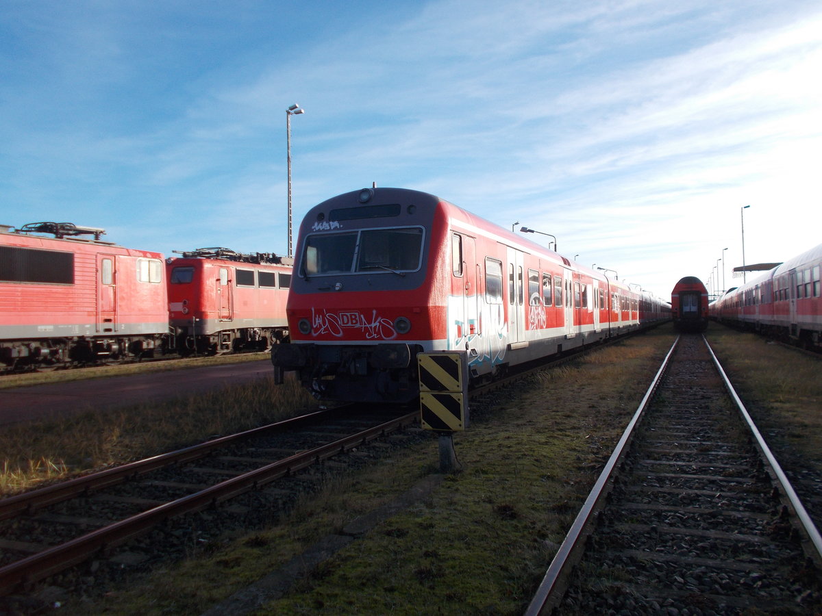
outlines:
M673 338L663 326L472 403L459 472L256 614L521 614ZM306 497L278 526L66 611L201 614L437 467L432 437Z

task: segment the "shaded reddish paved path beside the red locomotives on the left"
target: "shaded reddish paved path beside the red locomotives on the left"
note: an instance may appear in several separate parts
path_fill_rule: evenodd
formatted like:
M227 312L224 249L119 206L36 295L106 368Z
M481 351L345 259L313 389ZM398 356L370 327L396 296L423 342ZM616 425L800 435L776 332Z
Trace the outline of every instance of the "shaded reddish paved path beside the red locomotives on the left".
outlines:
M90 408L160 402L273 375L268 360L0 389L0 425Z

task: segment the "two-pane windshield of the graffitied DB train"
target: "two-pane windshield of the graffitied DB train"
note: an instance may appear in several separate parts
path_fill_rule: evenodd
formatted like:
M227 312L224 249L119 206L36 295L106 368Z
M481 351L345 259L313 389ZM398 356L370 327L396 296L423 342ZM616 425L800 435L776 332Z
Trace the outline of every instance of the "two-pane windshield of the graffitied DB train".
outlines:
M306 237L302 273L413 272L423 254L423 228L367 229Z

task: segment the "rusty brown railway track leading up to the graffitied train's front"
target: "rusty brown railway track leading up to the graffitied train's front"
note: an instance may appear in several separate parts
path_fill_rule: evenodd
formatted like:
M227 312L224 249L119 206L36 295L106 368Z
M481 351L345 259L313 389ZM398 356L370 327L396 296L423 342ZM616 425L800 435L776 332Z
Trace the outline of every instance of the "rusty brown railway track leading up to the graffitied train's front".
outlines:
M357 453L368 455L360 448L417 419L385 409L319 411L2 499L0 596L89 559L95 571L99 561L118 568L151 559L156 545L133 540L156 529L160 544L176 536L190 549L207 537L182 518L205 508L249 526L270 518L326 478L330 457L347 454L353 465Z

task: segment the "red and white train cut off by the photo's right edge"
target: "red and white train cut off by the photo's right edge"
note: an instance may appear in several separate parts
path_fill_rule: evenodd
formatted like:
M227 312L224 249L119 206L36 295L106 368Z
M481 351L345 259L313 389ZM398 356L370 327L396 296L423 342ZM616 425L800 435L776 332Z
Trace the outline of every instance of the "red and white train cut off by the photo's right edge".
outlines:
M822 245L811 248L711 304L713 319L822 350Z

